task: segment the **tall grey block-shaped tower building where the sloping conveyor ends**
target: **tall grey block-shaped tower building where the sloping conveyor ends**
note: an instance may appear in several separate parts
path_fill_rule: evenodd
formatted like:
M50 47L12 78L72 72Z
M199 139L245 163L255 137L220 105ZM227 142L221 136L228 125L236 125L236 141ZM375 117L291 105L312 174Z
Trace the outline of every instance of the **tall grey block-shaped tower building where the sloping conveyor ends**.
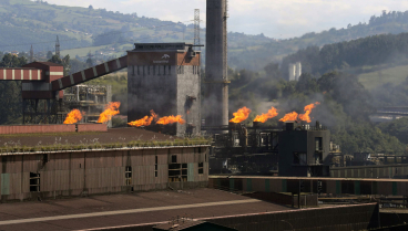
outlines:
M165 45L172 48L160 50L159 46ZM182 115L187 124L195 126L194 135L200 134L201 53L190 56L185 43L157 43L152 46L151 50L135 49L128 53L128 120L141 119L153 109L160 117ZM187 124L177 124L174 135L185 134Z

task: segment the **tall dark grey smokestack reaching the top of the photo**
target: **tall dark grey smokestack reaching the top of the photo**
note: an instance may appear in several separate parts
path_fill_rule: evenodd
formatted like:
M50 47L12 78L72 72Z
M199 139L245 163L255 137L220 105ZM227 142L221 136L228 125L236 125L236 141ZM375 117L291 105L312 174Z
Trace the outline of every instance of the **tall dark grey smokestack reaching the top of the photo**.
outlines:
M228 125L227 0L207 0L205 113L207 126Z

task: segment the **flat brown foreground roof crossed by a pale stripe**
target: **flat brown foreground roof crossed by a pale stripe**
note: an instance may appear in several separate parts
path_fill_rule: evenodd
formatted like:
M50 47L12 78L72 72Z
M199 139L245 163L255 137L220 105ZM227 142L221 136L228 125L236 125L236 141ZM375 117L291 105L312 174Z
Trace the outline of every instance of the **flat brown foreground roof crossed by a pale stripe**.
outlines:
M288 210L292 208L215 189L169 190L3 203L0 207L0 230L100 230L169 223L176 216L200 220Z

